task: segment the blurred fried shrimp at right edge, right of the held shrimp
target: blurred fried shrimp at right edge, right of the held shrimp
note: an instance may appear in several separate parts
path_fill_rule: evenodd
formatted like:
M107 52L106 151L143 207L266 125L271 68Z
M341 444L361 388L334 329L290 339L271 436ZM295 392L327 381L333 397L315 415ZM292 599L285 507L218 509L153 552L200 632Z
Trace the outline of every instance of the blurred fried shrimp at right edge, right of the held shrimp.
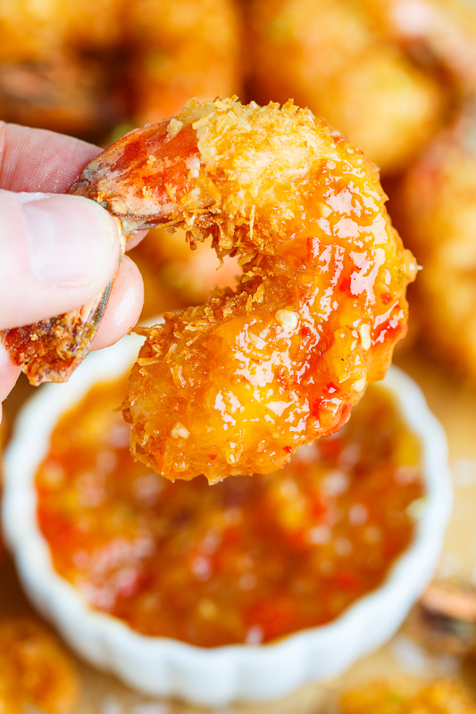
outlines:
M422 264L413 292L422 338L476 378L476 111L468 108L405 176L396 220Z

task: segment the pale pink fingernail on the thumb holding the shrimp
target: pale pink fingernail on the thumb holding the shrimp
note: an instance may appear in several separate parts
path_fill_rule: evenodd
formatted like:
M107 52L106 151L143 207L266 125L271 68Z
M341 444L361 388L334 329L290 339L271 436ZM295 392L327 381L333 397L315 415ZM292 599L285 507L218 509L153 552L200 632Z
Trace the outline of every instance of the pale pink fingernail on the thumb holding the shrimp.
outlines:
M112 217L101 206L74 195L51 195L23 203L31 272L40 282L88 286L119 257Z

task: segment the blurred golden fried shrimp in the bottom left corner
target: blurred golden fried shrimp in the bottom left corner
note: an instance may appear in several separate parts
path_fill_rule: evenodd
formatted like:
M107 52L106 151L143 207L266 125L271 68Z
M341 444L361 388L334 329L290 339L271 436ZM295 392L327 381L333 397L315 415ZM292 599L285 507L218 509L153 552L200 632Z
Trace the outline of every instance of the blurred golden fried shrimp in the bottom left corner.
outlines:
M78 695L78 673L57 637L34 619L0 622L2 714L21 714L24 702L48 714L66 714Z

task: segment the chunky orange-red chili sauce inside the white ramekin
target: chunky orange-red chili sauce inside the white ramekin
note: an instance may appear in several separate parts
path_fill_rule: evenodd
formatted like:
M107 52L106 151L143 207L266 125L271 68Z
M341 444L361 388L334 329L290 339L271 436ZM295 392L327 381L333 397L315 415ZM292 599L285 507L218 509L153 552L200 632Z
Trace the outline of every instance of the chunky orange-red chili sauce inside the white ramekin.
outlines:
M212 647L321 625L412 540L421 449L383 387L280 472L215 486L132 461L123 388L93 387L57 424L38 521L60 575L138 632Z

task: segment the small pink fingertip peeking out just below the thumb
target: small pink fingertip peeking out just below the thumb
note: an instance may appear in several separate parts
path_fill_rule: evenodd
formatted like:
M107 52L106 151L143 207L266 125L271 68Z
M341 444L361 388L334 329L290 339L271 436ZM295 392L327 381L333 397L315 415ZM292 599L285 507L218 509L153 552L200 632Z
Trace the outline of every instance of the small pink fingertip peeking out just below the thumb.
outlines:
M135 262L126 255L97 330L92 349L113 345L136 325L144 305L144 282Z

